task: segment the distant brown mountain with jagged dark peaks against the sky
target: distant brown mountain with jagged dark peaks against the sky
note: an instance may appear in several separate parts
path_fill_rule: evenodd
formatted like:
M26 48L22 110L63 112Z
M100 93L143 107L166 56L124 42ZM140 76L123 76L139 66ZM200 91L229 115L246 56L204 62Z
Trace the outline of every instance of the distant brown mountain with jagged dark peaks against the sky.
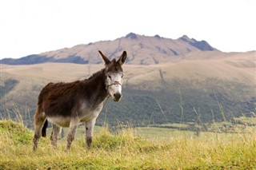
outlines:
M33 54L18 59L4 58L2 64L31 65L45 62L65 62L76 64L98 64L98 50L110 58L119 56L123 50L129 54L127 64L150 65L181 60L187 53L198 51L218 51L206 41L197 41L186 35L178 39L154 37L130 33L114 41L101 41L72 48L58 49L46 53Z

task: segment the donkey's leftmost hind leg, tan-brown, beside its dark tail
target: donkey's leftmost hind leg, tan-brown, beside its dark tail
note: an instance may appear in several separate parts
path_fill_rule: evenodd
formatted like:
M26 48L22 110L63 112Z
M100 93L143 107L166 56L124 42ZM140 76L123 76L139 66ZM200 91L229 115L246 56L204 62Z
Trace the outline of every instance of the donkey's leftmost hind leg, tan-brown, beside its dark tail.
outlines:
M34 113L34 151L38 148L38 140L42 136L42 126L46 121L46 114L42 112L42 109L36 109Z

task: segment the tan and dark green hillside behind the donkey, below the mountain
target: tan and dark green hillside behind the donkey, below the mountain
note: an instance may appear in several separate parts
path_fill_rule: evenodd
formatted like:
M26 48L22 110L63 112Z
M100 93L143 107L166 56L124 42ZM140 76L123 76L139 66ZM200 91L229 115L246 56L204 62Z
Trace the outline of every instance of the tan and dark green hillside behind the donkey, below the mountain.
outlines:
M229 121L255 113L255 52L196 52L162 65L124 65L122 101L107 101L97 124L145 126ZM103 65L1 65L1 117L33 121L38 93L48 82L75 81Z

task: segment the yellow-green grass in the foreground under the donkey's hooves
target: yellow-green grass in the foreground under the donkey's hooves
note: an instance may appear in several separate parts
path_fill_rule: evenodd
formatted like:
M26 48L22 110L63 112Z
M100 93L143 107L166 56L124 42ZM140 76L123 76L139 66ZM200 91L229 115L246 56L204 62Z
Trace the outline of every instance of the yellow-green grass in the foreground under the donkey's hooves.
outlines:
M41 138L33 152L32 131L14 121L0 121L0 169L256 168L254 130L202 132L196 137L170 128L128 128L116 134L98 128L89 151L80 136L78 132L70 152L64 152L66 140L59 140L54 150L48 138Z

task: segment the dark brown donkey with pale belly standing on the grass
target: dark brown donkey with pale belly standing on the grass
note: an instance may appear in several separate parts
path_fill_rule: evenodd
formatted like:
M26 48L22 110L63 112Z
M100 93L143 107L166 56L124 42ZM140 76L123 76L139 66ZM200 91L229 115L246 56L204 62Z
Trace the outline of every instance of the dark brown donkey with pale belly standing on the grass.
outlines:
M34 113L34 151L38 148L39 138L46 136L48 121L53 125L50 141L54 148L61 128L69 127L66 150L70 149L79 122L85 123L86 147L91 147L95 121L104 103L108 97L114 101L122 97L122 65L127 56L124 51L118 61L110 61L98 52L105 62L104 69L83 81L49 83L42 89Z

